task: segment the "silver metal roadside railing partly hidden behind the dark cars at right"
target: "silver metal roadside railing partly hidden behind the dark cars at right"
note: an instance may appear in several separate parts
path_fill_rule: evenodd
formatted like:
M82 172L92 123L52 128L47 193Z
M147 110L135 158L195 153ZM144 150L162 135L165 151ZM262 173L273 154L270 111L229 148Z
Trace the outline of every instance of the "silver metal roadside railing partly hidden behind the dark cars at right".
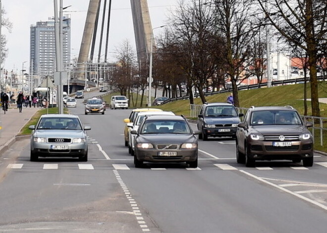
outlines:
M190 104L190 117L191 118L197 118L200 112L200 109L202 107L202 104ZM248 108L241 108L236 107L237 111L239 113L243 113L245 115ZM312 136L315 140L315 130L319 130L319 136L320 136L320 145L324 145L324 130L327 131L327 128L324 128L324 124L327 124L327 117L315 117L315 116L301 116L304 122L312 122ZM241 118L242 120L242 118Z

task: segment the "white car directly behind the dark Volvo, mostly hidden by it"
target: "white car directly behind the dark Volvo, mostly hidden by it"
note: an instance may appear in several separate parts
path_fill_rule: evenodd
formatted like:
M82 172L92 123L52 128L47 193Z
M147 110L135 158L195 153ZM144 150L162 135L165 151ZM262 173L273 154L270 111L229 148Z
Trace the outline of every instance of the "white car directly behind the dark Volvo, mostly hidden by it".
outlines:
M143 122L143 120L146 117L149 116L154 116L154 115L170 115L170 116L174 116L175 114L173 112L170 111L146 111L146 112L140 112L135 121L133 123L127 123L127 127L129 127L132 130L138 130L140 124ZM128 153L134 155L134 141L135 141L135 137L134 135L130 134L130 131L128 131Z

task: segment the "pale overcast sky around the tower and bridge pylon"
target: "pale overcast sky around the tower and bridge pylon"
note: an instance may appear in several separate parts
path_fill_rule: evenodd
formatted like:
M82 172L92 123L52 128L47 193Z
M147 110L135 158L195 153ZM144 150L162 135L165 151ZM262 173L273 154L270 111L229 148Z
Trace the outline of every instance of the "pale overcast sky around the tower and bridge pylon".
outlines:
M107 1L109 4L109 0ZM24 63L24 69L29 70L30 26L38 21L47 21L54 15L54 0L2 0L1 2L2 8L6 11L3 17L8 18L13 24L11 33L2 27L2 34L6 35L8 42L8 56L4 61L4 68L21 70L22 63L27 61ZM166 16L177 3L178 0L148 0L153 28L165 24ZM89 0L63 0L63 5L71 5L66 9L69 11L66 13L71 15L71 58L73 58L77 56L81 45ZM136 50L130 0L112 0L111 9L109 52L114 52L125 39L128 39ZM155 30L155 36L158 36L161 30ZM98 51L95 54L98 54ZM113 56L113 53L108 54L109 62L114 61Z

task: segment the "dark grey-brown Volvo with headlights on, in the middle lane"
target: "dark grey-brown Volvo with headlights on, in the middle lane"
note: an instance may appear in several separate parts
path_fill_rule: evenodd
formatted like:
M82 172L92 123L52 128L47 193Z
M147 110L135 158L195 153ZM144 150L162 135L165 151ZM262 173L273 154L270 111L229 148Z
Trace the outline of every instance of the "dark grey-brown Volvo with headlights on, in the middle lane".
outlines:
M135 167L144 162L186 162L198 167L198 140L186 119L181 116L149 116L135 135Z

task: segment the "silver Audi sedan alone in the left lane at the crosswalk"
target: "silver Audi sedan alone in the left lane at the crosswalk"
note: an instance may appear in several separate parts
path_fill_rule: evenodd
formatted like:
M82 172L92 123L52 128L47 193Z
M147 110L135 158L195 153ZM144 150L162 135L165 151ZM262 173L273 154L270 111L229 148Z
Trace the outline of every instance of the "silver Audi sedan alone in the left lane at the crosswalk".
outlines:
M37 125L29 126L31 136L31 161L39 157L78 157L87 161L88 140L86 130L78 116L68 114L42 115Z

